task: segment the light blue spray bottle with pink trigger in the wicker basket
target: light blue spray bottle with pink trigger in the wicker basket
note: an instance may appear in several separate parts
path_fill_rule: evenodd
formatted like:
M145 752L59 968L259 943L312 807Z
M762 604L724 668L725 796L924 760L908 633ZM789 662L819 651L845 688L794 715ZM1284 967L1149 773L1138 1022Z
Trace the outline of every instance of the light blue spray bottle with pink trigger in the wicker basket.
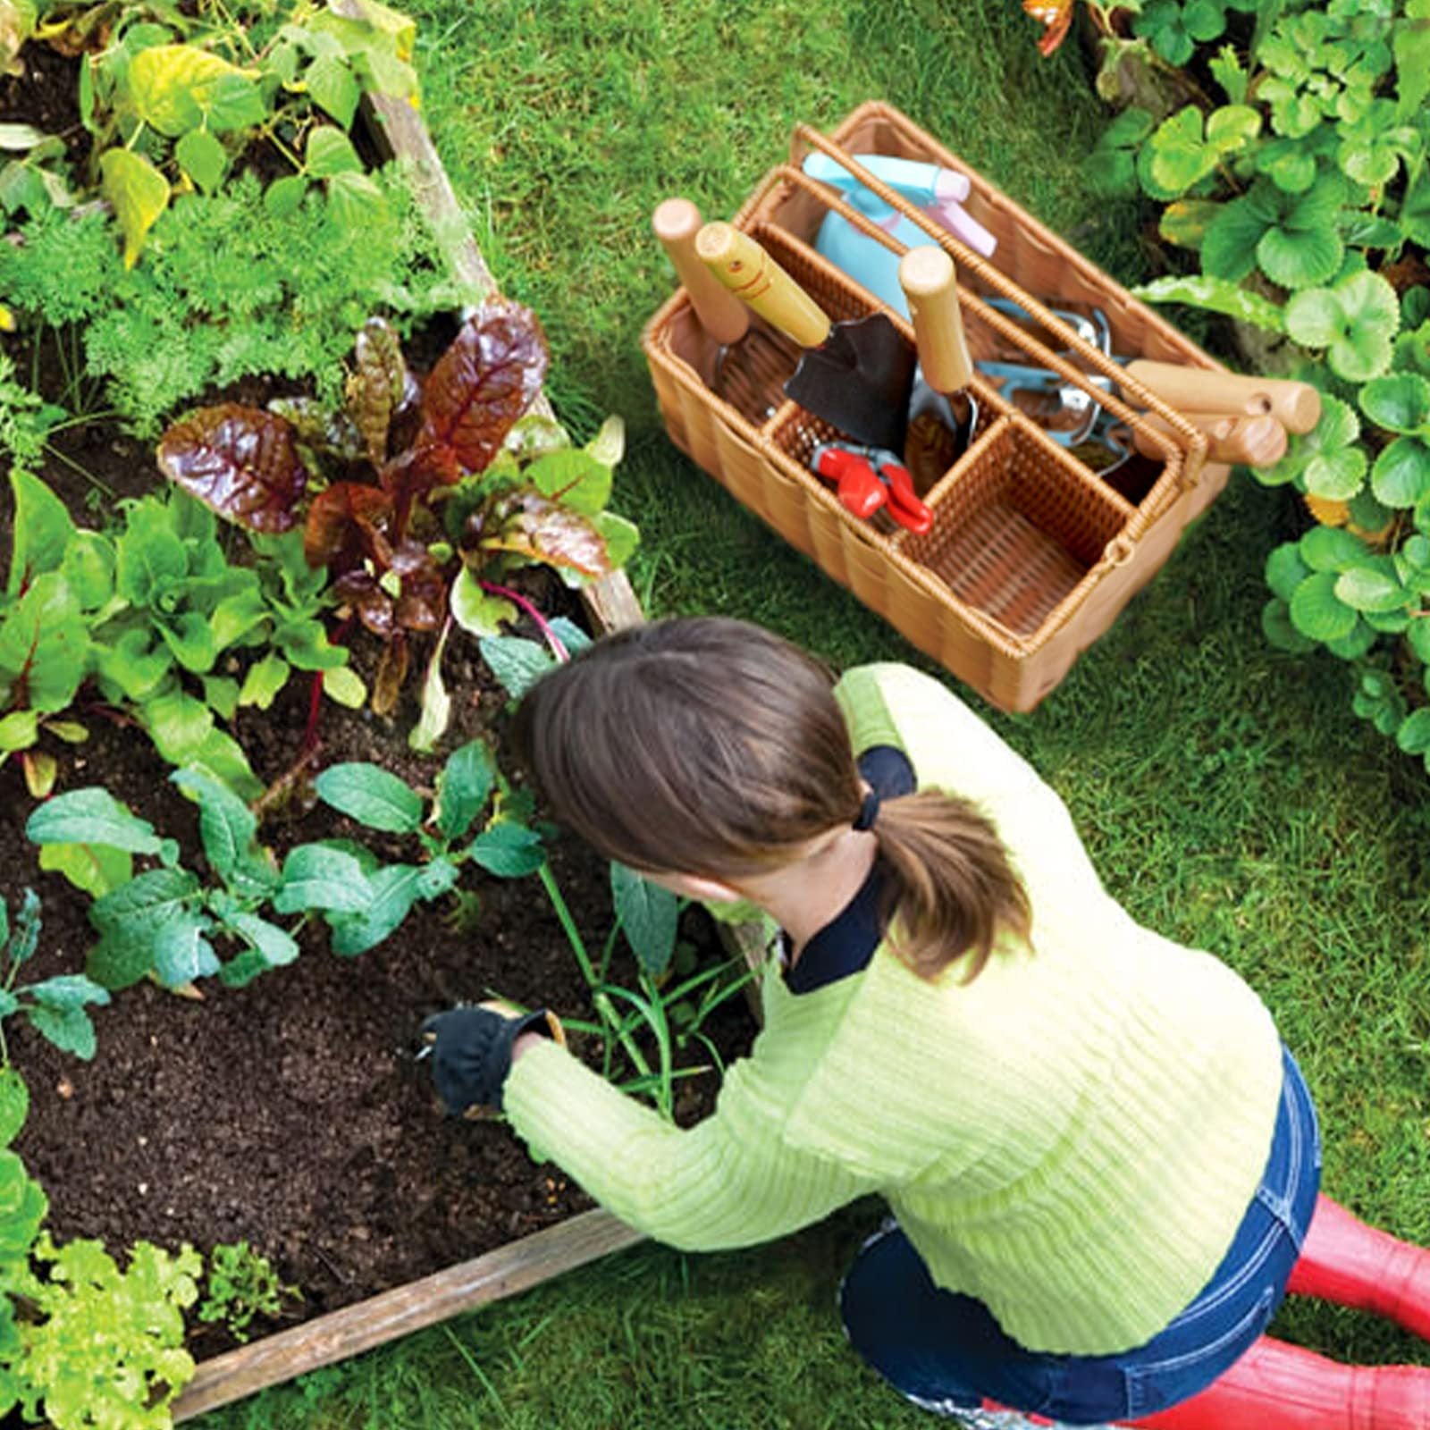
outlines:
M965 209L962 199L968 197L970 180L957 169L941 169L937 164L915 163L911 159L891 159L885 154L854 154L859 164L875 179L882 179L897 189L909 203L917 204L957 235L975 253L991 257L998 240L978 223ZM877 223L891 237L898 239L905 249L919 247L930 242L928 235L898 209L889 207L877 193L862 183L844 164L829 154L815 150L805 156L804 172L819 183L839 189L844 197L871 223ZM867 287L899 317L908 317L904 290L898 285L899 255L887 249L877 239L861 233L841 213L825 214L819 225L815 247L835 267L848 273L857 283Z

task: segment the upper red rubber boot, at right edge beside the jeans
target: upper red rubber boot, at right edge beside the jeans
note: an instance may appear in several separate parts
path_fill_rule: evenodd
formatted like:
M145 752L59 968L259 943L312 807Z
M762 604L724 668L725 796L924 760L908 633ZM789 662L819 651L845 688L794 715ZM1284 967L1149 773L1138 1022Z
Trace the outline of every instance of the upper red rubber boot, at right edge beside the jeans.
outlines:
M1287 1290L1387 1316L1430 1340L1430 1251L1366 1226L1330 1197L1316 1198Z

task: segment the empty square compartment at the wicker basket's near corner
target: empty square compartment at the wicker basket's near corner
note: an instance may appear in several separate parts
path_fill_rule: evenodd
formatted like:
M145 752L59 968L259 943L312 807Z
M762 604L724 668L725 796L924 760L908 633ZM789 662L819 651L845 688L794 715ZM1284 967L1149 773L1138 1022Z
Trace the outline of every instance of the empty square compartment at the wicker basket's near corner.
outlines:
M1035 636L1072 596L1131 516L1024 425L997 423L941 482L934 525L902 552L965 605L1015 636Z

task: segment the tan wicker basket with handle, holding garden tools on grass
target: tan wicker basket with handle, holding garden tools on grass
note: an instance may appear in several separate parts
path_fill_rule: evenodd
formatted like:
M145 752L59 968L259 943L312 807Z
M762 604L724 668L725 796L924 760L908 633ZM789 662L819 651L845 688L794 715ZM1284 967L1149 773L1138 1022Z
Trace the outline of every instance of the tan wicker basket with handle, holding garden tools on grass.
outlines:
M734 219L835 320L889 310L815 252L825 213L834 209L897 253L904 246L802 173L798 160L811 147L847 163L952 255L974 358L1051 368L1145 433L1160 455L1130 463L1115 485L1103 480L1077 450L1055 443L995 386L975 378L978 430L925 496L932 529L915 536L882 516L859 521L808 469L815 443L835 432L784 395L798 349L756 323L736 350L721 355L684 289L655 313L642 339L671 439L921 651L1000 708L1030 711L1151 579L1230 470L1205 460L1205 438L1180 413L1050 309L1100 309L1118 358L1217 365L887 104L861 106L831 137L801 126L795 162L771 170ZM881 184L851 153L967 173L972 192L964 207L998 239L994 262ZM1014 299L1032 322L1014 322L988 297ZM889 316L912 346L909 325ZM1105 379L1117 383L1121 399L1108 395ZM1144 410L1163 418L1173 435L1145 423Z

